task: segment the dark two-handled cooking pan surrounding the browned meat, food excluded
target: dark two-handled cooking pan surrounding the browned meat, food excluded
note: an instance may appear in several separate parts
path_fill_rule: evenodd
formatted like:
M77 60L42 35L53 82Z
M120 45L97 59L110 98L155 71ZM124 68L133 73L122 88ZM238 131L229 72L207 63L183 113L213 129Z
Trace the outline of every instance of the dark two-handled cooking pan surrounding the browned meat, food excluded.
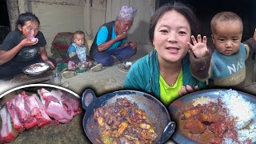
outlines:
M134 90L120 90L96 98L94 91L88 89L82 94L82 108L86 110L82 125L90 142L101 143L101 137L98 134L98 124L94 121L93 117L94 109L114 103L117 98L128 98L131 102L136 102L140 109L146 111L147 116L154 122L155 132L158 134L158 138L154 143L166 142L171 134L174 133L175 122L171 122L168 110L158 99L150 94Z

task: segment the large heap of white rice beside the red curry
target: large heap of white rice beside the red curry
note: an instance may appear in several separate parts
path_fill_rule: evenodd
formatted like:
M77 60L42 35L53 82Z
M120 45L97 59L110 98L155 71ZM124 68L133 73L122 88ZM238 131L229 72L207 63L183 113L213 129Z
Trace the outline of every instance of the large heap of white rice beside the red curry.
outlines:
M220 99L224 103L231 118L235 118L236 130L238 131L238 140L245 141L247 138L256 141L256 106L242 98L235 90L219 91ZM230 142L228 138L226 142ZM232 142L233 143L233 142Z

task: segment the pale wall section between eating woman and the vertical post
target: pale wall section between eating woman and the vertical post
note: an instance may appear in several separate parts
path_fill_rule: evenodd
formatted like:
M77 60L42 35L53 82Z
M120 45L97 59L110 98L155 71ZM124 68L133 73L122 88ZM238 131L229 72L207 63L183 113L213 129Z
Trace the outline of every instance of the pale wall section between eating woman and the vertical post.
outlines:
M46 37L46 50L50 54L51 42L59 32L84 30L84 3L72 1L30 1L29 10L36 14L41 22L40 30Z

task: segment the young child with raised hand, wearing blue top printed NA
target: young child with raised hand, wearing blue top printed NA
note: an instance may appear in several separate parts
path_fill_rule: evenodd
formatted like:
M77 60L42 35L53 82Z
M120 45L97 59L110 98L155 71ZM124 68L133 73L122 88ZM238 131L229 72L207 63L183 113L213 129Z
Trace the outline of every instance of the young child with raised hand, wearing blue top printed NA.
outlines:
M242 19L233 12L214 15L210 28L215 47L212 54L207 50L206 36L201 40L198 35L198 42L191 37L193 53L202 52L190 54L190 60L196 59L191 62L192 74L200 80L209 79L211 87L241 89L246 78L246 59L256 49L256 32L254 38L242 43Z

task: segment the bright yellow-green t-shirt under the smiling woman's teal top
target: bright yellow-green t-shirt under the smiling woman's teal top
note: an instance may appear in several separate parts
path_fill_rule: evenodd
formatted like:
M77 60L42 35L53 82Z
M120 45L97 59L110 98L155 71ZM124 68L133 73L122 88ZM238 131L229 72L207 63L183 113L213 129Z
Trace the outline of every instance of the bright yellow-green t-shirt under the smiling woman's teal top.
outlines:
M165 106L169 106L170 102L173 102L178 98L178 91L182 88L182 71L178 74L177 81L174 83L174 86L169 86L166 81L162 78L162 75L159 76L160 84L160 100Z

